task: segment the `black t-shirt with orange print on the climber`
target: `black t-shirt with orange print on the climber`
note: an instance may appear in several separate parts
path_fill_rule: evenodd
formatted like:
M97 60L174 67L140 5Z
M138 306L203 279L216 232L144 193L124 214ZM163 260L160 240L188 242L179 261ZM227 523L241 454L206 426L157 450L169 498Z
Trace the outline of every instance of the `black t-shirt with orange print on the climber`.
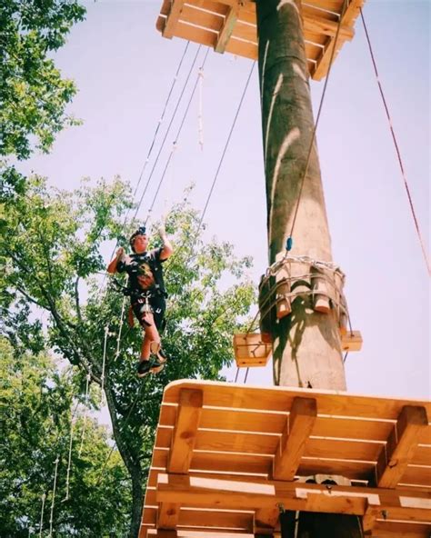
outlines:
M162 248L155 248L143 254L130 254L116 264L118 273L126 272L129 277L128 287L132 292L160 291L165 294L162 264Z

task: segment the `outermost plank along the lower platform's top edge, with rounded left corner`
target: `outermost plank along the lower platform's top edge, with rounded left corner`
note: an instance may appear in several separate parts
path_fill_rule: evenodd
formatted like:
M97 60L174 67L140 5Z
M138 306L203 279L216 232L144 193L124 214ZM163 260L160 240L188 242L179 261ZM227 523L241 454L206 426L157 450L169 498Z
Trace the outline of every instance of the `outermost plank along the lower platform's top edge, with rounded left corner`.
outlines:
M405 405L421 405L431 416L431 403L401 398L380 398L336 391L288 387L253 387L211 381L178 380L165 387L164 403L177 403L182 388L201 388L205 406L228 407L232 410L288 411L296 396L316 398L319 414L332 417L397 420Z

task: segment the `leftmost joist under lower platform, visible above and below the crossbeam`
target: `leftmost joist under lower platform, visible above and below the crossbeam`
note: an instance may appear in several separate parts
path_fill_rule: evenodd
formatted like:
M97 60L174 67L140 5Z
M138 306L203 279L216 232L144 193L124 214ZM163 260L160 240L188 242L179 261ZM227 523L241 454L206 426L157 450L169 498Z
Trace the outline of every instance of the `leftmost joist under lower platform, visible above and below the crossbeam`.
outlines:
M190 468L203 400L204 397L200 390L183 389L181 391L167 463L169 473L187 473ZM180 508L181 503L161 503L158 510L158 528L175 529Z

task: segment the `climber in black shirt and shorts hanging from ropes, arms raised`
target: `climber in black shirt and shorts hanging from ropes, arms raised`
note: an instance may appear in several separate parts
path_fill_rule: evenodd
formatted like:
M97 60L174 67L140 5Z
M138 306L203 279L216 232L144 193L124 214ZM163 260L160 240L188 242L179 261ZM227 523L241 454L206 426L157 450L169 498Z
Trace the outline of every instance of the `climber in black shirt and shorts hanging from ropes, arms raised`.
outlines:
M165 324L165 283L162 264L173 253L165 226L158 230L162 246L150 250L145 226L138 228L129 239L133 254L125 254L120 246L115 258L107 267L109 274L127 273L127 294L130 294L130 309L144 329L141 356L136 364L136 374L158 374L164 368L166 356L161 347L159 331ZM132 324L133 314L131 313ZM130 316L129 316L130 319Z

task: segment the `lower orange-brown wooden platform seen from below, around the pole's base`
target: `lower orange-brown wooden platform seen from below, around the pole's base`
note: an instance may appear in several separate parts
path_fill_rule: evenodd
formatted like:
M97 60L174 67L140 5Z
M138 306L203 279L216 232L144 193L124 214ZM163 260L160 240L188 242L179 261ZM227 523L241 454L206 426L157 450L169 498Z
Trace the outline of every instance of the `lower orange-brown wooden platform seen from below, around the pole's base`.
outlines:
M356 514L379 538L428 538L430 416L422 401L176 381L165 388L139 537L271 533L282 503ZM351 485L305 482L316 474Z

